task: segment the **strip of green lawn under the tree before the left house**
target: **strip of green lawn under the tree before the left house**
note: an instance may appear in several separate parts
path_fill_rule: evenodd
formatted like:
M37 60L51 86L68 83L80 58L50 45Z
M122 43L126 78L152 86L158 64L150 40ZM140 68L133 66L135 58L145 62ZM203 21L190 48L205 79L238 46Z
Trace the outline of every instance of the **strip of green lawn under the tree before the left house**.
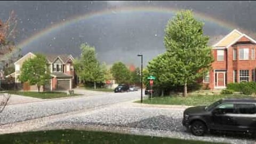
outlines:
M67 95L65 92L21 92L21 91L7 91L10 94L18 94L27 97L39 98L39 99L55 99L63 97L73 97L79 94L70 94Z

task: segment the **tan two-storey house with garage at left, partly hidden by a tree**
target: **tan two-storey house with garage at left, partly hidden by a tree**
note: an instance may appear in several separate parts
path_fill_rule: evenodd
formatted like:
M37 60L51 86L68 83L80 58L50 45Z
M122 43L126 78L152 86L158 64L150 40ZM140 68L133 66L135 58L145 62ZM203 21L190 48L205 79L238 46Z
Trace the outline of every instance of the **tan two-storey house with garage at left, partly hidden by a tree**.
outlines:
M29 52L21 59L14 62L15 72L11 75L15 78L15 83L20 83L18 76L20 75L20 68L23 62L30 58L36 57L35 54ZM43 88L44 91L55 90L71 90L76 85L76 74L73 66L74 58L72 55L50 55L46 54L48 61L47 68L51 73L51 79ZM37 90L36 85L23 84L23 90Z

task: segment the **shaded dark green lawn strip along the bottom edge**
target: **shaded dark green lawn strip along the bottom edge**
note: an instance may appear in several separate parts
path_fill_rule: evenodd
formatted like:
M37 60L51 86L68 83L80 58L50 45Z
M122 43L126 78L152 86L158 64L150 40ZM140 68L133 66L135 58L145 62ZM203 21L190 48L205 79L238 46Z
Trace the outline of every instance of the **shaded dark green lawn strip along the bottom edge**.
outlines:
M160 137L146 137L140 135L117 134L109 132L92 132L76 130L55 130L55 131L38 131L0 135L0 143L187 143L203 144L211 142L180 140Z

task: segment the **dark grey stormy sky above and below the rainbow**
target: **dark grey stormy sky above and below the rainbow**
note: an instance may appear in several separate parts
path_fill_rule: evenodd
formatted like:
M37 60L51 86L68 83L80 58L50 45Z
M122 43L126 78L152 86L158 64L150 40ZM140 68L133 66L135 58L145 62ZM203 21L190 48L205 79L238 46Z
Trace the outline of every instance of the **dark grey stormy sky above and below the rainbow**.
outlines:
M234 23L253 33L256 29L255 2L249 1L1 1L0 19L6 20L11 10L19 19L20 34L17 43L33 36L55 23L75 15L123 6L157 6L176 9L192 9ZM164 27L172 15L165 13L114 14L80 21L51 35L38 39L23 49L29 51L79 54L79 45L87 42L94 45L102 61L117 60L139 63L137 53L145 54L145 62L164 52ZM213 22L205 23L205 34L219 37L228 29ZM214 41L211 40L211 41Z

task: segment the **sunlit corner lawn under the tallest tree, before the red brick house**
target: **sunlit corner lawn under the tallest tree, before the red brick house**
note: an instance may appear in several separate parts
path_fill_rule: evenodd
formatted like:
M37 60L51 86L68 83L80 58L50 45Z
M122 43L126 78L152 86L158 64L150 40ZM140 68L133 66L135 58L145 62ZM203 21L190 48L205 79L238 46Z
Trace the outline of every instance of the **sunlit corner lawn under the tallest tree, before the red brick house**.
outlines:
M198 106L198 105L210 105L214 101L222 98L251 98L251 96L242 94L220 94L220 95L190 95L187 98L169 96L169 97L155 97L153 99L145 99L143 103L159 104L159 105L186 105L186 106ZM140 101L136 101L140 103Z

